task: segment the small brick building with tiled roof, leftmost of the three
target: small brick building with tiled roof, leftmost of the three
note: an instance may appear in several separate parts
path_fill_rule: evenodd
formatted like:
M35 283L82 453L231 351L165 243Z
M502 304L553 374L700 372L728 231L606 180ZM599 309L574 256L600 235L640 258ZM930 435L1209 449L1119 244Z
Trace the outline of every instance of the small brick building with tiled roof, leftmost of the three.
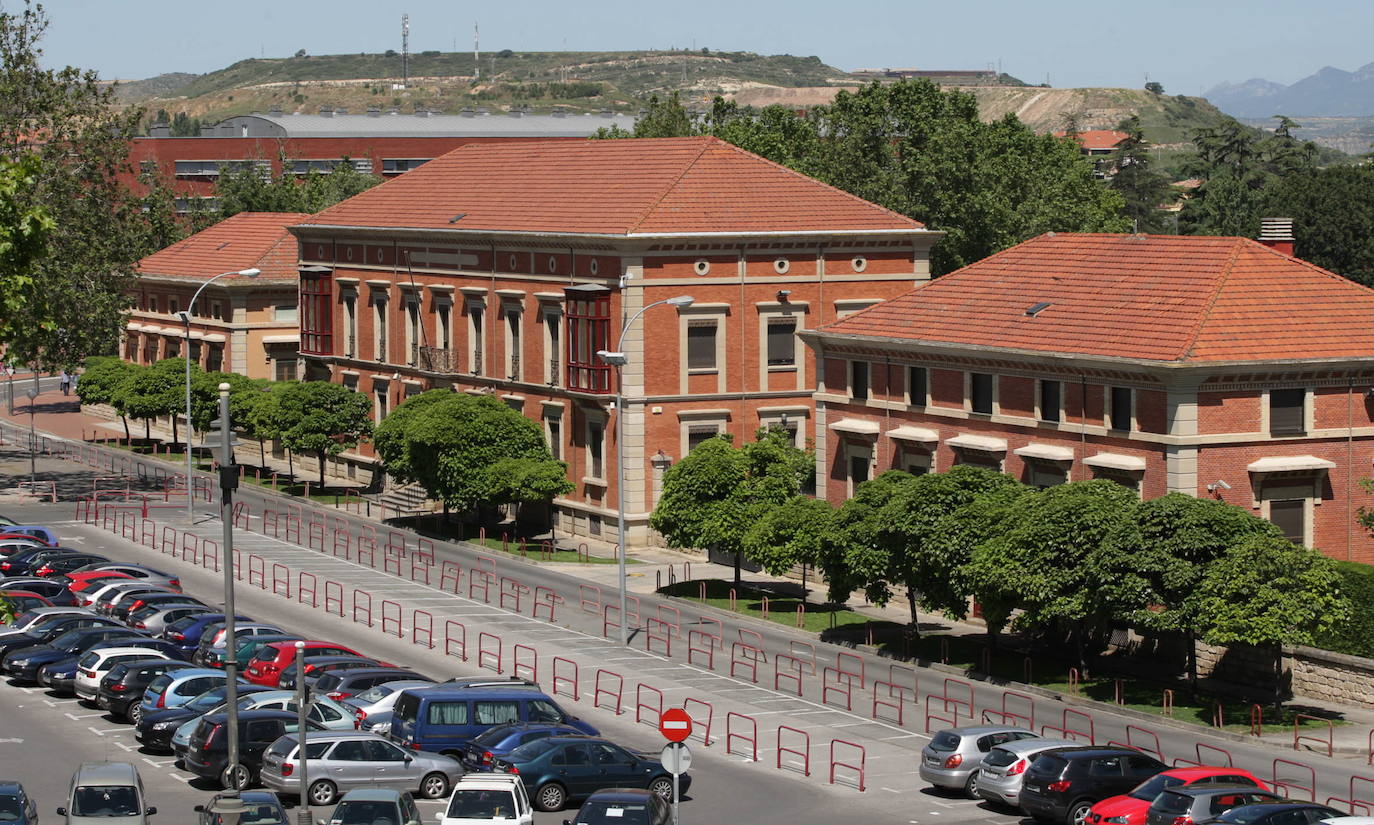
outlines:
M124 340L125 360L150 364L181 355L177 315L206 280L191 318L191 358L206 370L278 381L298 377L297 245L286 230L300 212L242 212L137 263L139 280Z

